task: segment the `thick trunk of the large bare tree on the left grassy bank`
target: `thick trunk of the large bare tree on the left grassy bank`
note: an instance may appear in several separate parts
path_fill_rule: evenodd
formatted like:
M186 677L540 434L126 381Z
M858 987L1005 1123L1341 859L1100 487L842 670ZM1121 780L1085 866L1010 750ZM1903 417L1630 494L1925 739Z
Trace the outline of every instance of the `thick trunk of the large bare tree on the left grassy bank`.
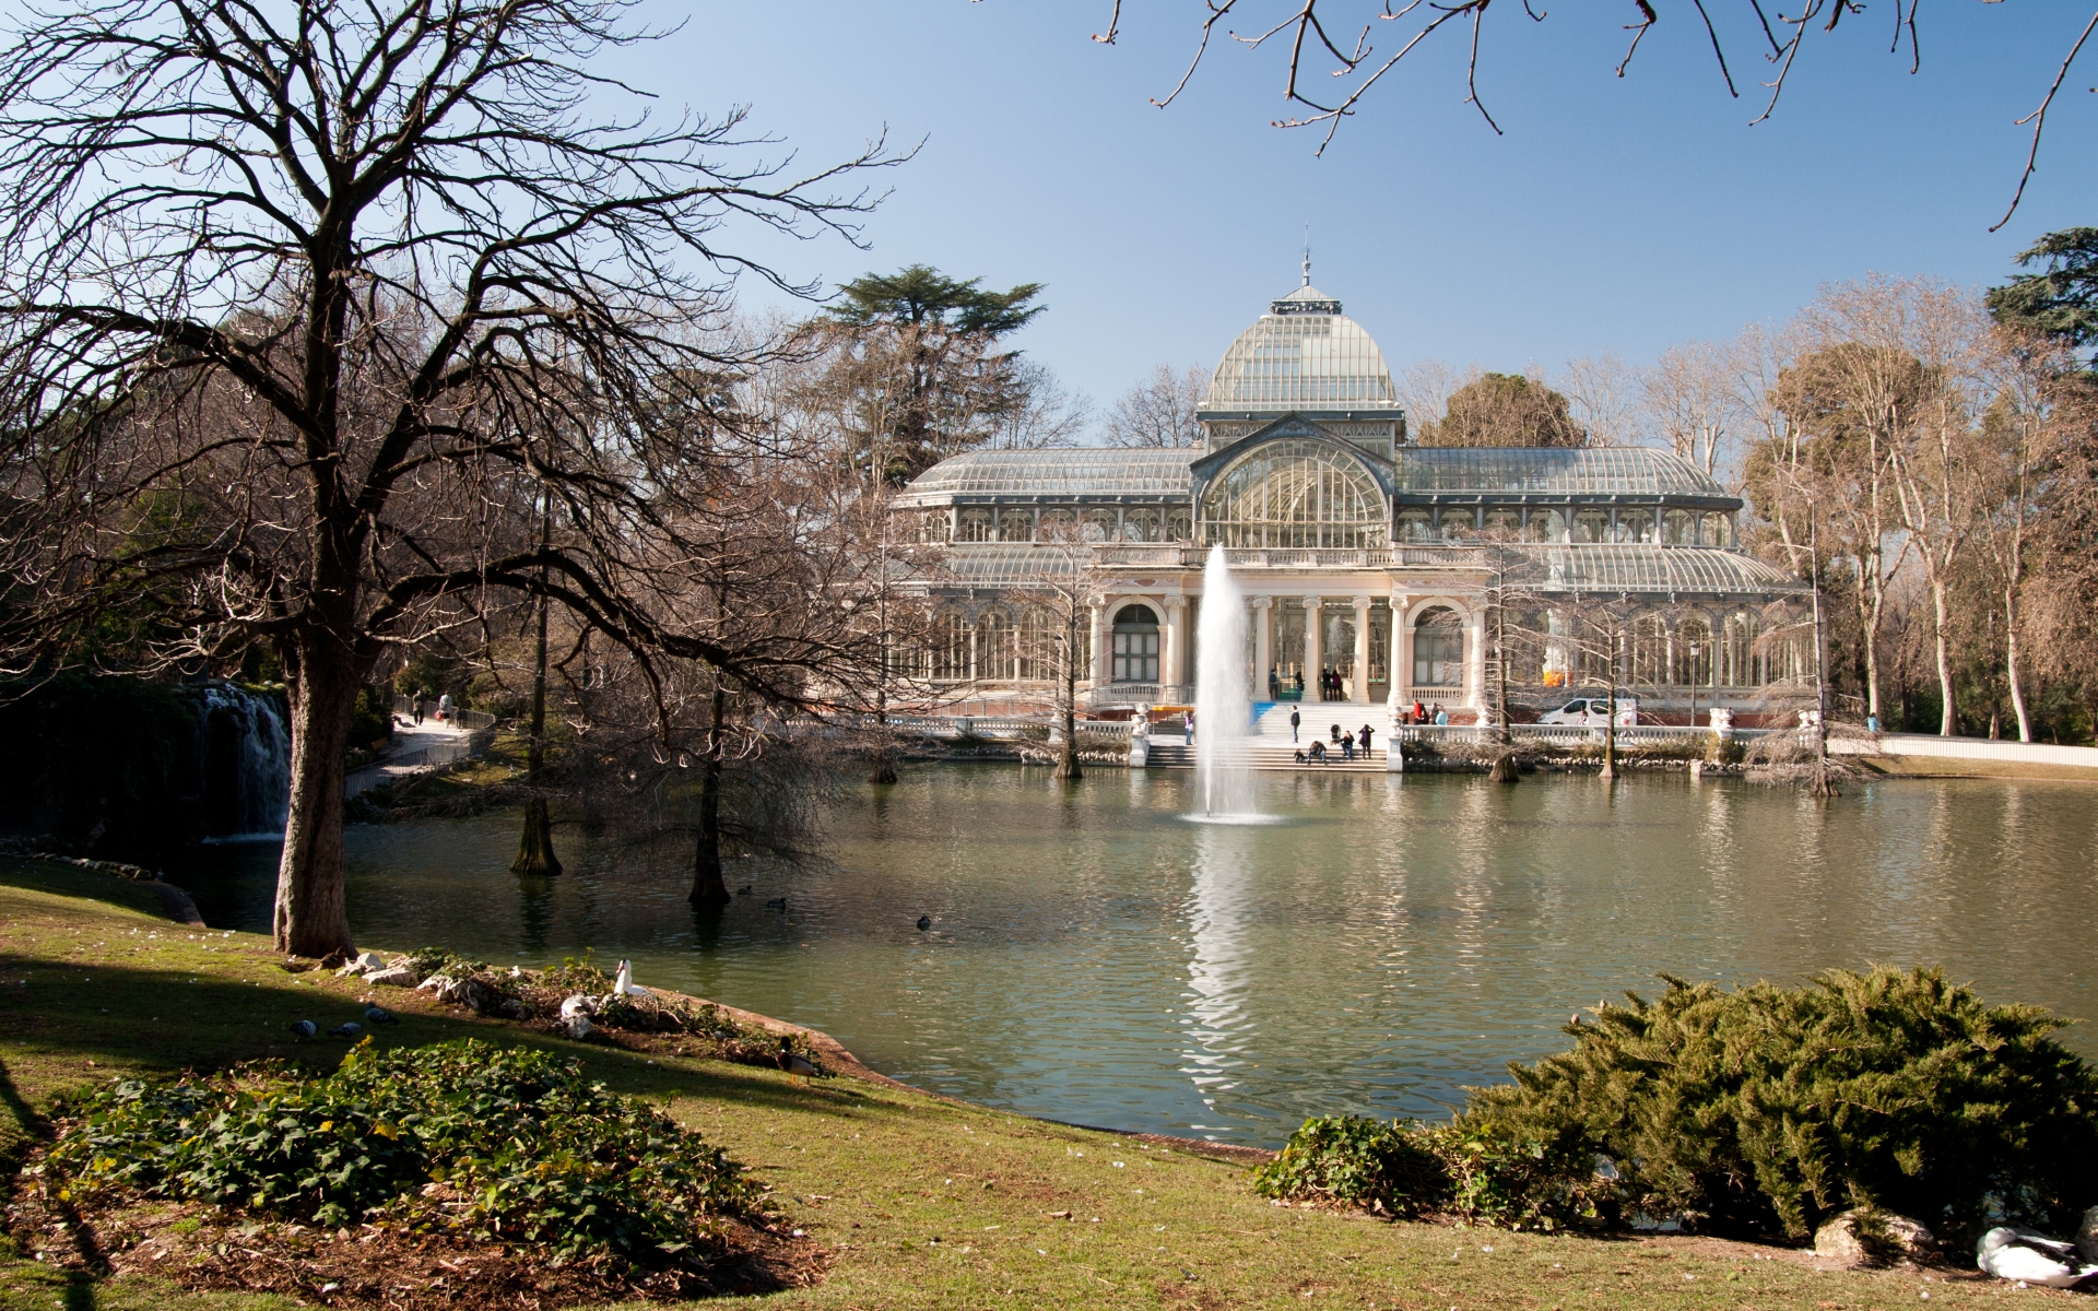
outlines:
M292 957L357 950L342 900L342 753L359 673L327 638L287 669L292 703L292 805L283 820L271 940Z

